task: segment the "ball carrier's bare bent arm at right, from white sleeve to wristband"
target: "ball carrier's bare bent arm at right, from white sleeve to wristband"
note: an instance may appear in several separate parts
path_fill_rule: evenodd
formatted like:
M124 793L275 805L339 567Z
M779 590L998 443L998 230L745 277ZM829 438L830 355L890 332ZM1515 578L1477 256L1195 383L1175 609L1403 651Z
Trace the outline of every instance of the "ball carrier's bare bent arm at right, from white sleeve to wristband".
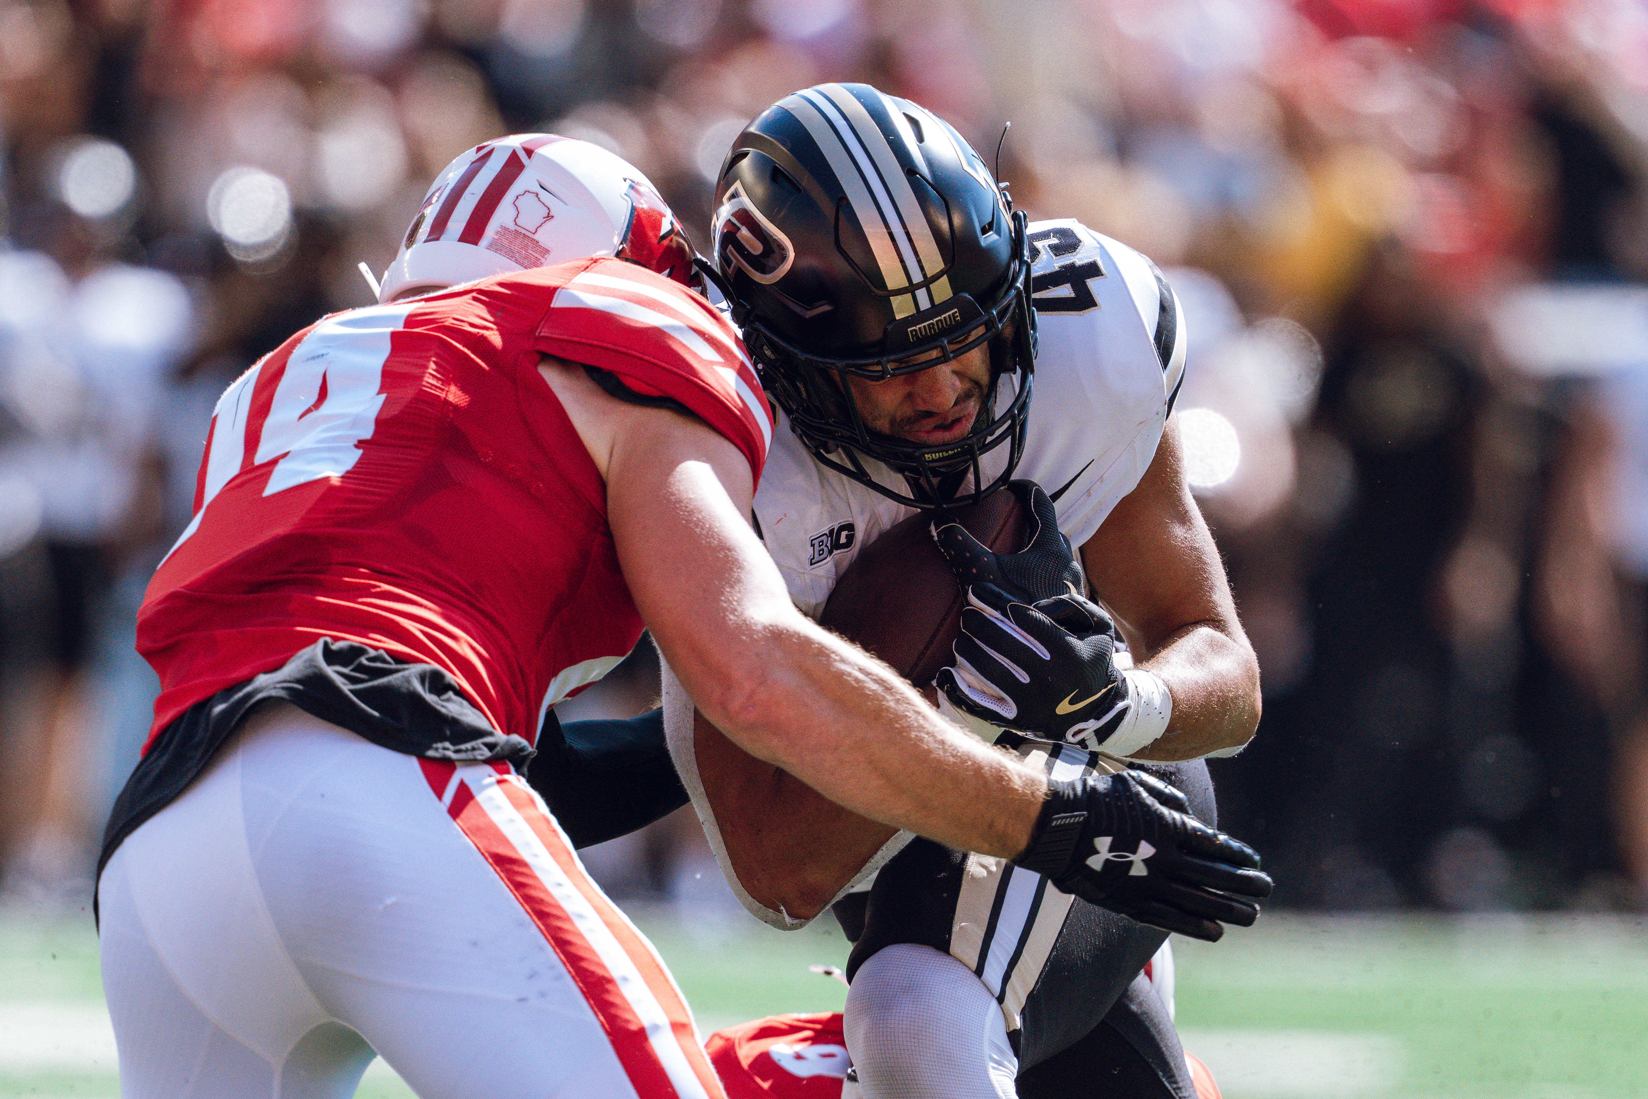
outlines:
M1259 661L1185 483L1177 417L1137 488L1083 544L1081 562L1137 666L1173 697L1167 733L1134 758L1193 760L1246 745L1259 723Z

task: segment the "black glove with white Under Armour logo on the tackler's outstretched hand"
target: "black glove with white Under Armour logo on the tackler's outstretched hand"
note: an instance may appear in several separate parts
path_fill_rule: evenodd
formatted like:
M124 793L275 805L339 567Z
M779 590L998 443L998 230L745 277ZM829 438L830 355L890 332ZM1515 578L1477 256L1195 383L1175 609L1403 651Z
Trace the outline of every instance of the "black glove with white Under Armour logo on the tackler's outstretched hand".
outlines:
M1271 895L1259 855L1190 816L1190 802L1142 771L1048 779L1030 845L1014 863L1084 901L1216 942L1251 928Z

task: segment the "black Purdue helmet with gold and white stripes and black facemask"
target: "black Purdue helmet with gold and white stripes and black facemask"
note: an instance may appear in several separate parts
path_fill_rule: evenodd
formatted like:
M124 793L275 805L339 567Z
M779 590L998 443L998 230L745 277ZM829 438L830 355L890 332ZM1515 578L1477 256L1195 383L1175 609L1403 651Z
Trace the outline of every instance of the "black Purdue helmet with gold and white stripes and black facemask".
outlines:
M715 194L733 321L819 461L916 507L969 499L969 473L974 501L1012 478L1035 369L1028 221L949 124L868 84L808 87L738 135ZM921 447L865 428L849 374L910 374L984 343L990 387L969 435ZM1007 468L986 483L981 460L1002 445Z

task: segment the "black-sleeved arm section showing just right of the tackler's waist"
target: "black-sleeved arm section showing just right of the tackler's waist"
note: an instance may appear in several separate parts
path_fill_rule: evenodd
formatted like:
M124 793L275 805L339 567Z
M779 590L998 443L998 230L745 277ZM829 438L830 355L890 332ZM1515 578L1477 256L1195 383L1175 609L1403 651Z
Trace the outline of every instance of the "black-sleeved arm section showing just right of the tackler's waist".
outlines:
M574 847L628 835L687 804L669 760L662 710L565 725L552 710L526 778Z

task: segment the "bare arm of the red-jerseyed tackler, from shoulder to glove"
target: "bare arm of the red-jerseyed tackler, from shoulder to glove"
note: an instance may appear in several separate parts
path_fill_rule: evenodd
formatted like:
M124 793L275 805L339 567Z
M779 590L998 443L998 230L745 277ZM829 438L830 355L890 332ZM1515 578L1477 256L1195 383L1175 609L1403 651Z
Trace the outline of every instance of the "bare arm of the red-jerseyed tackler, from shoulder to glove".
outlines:
M689 417L618 402L570 364L545 359L541 372L606 479L643 620L735 745L887 825L1009 858L1025 849L1046 779L794 608L743 519L753 484L732 443Z

